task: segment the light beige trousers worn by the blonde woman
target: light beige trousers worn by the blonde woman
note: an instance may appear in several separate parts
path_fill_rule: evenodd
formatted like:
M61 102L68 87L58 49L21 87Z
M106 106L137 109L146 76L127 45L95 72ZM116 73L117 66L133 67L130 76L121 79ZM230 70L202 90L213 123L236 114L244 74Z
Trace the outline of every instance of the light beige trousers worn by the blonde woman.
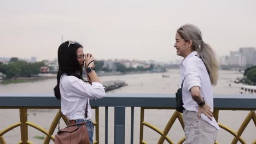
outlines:
M218 130L211 124L199 119L194 111L183 111L185 125L185 141L183 144L213 144Z

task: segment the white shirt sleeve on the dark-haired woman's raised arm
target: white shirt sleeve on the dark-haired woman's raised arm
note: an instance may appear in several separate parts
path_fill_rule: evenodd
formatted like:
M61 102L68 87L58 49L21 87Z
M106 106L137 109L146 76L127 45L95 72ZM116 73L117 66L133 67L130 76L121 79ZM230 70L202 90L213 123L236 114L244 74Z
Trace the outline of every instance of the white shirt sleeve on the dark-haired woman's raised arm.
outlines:
M66 88L69 95L74 97L87 97L90 99L101 99L105 97L104 86L99 82L92 82L92 85L86 83L77 77L68 76L66 81Z

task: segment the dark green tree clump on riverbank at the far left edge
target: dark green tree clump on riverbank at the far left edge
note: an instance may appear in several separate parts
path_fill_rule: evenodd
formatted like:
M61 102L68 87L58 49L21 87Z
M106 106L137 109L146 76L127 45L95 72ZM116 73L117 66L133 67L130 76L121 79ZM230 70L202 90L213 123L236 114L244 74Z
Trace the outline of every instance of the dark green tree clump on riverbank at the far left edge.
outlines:
M40 67L44 66L43 62L27 63L26 61L15 61L15 58L11 60L9 64L0 64L0 72L11 77L31 77L37 75L40 72Z

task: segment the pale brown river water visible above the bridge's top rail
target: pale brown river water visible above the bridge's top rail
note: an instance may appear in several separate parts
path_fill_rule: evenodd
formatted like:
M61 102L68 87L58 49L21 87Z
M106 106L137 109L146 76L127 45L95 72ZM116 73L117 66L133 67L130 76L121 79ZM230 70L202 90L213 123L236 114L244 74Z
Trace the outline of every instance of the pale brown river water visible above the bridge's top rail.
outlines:
M168 75L170 77L162 77ZM213 93L238 94L241 84L234 83L237 77L242 77L238 71L220 70L219 81L213 88ZM101 76L101 81L123 80L128 85L109 93L175 93L181 85L179 80L179 70L171 69L166 73L147 73L147 74L127 74ZM231 84L231 86L229 86ZM56 79L45 79L33 82L12 83L8 85L0 84L1 93L34 93L44 94L53 93Z

